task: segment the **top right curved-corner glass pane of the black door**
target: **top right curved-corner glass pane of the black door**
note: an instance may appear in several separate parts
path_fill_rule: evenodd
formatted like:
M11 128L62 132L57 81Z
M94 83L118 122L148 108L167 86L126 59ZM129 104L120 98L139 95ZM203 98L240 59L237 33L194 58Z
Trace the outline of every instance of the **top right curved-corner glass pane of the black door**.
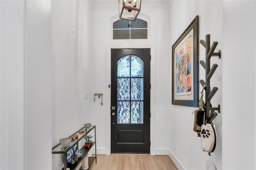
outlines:
M131 76L143 77L143 61L135 55L131 58Z

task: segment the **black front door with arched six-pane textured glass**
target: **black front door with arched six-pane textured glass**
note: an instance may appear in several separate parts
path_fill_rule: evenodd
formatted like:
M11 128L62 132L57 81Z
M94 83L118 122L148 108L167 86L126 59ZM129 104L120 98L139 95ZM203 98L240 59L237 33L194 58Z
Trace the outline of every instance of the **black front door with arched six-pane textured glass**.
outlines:
M150 49L111 49L111 153L150 153Z

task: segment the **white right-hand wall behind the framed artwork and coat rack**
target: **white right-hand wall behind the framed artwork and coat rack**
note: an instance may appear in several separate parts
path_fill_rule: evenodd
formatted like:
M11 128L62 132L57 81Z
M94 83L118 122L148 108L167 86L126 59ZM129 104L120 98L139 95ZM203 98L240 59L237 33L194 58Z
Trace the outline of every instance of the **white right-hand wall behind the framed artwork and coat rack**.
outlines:
M218 41L215 52L223 50L222 47L222 1L174 1L170 9L170 47L176 39L188 27L190 22L199 16L199 40L206 39L210 34L211 45ZM171 54L169 55L171 58ZM211 100L212 106L222 107L222 59L211 58L211 65L218 64L211 78L211 88L218 87L218 91ZM205 61L205 48L199 43L199 61ZM171 70L169 72L171 75ZM199 80L205 80L205 70L199 64ZM171 89L171 86L169 87ZM199 84L199 90L202 86ZM171 103L171 99L170 99ZM214 119L216 126L217 147L212 156L200 149L200 138L193 131L194 115L192 111L196 107L172 105L168 109L169 114L169 155L179 169L206 169L206 161L210 159L217 169L222 168L222 109ZM224 114L224 113L223 113Z

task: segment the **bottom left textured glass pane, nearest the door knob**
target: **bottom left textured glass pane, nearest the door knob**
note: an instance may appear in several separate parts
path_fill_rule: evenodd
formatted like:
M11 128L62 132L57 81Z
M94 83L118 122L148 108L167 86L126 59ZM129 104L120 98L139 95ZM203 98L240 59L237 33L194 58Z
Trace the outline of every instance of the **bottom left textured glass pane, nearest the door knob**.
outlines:
M117 102L117 123L130 123L130 102Z

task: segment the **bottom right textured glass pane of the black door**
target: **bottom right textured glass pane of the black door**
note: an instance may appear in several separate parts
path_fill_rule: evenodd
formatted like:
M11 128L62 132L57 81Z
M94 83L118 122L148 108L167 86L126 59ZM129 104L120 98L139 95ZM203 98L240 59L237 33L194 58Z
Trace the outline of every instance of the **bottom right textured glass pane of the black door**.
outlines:
M131 102L131 123L143 123L143 102Z

